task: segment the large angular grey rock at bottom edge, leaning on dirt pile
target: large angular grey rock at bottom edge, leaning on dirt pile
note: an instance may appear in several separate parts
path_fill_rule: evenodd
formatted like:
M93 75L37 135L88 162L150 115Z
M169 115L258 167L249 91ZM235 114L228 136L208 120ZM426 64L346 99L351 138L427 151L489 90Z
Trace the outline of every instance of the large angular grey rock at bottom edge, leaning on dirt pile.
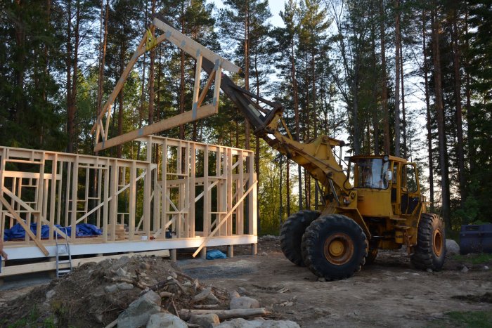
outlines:
M147 324L151 315L160 313L160 296L155 291L148 291L131 302L127 310L118 316L119 328L140 327Z

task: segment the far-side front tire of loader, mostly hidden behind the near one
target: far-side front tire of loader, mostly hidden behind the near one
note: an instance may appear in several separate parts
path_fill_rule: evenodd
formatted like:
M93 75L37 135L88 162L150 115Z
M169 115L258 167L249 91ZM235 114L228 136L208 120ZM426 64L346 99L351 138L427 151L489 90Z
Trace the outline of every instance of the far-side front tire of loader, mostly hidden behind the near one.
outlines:
M289 216L280 229L280 248L285 257L295 265L306 266L301 254L302 235L318 216L318 211L299 211Z

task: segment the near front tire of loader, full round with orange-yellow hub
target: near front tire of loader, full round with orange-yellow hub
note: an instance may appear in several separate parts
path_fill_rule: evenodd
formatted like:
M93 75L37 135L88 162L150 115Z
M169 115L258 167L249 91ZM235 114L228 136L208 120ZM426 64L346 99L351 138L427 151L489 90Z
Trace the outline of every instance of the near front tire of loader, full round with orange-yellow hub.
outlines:
M368 240L360 225L340 214L313 221L302 237L302 256L312 273L326 280L351 277L368 255Z

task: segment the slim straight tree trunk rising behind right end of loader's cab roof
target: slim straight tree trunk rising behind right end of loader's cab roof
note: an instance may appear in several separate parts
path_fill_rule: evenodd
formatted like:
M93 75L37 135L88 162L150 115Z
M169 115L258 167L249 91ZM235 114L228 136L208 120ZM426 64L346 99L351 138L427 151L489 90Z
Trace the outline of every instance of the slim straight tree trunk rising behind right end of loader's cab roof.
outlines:
M400 1L395 1L394 155L400 157Z

